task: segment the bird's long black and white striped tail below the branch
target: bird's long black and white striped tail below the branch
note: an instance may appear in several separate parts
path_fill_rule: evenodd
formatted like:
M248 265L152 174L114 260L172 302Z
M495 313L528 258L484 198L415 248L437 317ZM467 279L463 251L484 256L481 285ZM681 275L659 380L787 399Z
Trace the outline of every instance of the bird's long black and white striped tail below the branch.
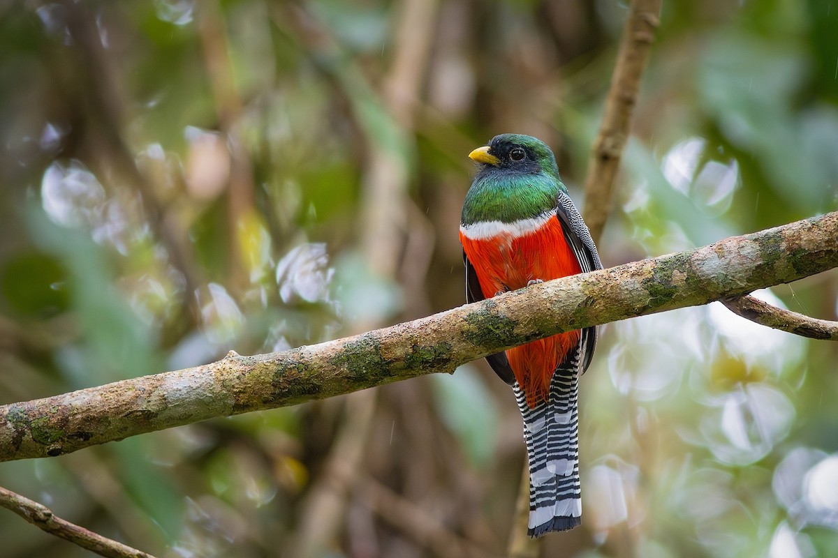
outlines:
M513 386L521 415L530 461L530 522L527 535L573 529L582 523L579 484L579 386L577 358L567 359L550 384L550 397L534 409L526 404L524 391ZM575 365L575 366L574 366Z

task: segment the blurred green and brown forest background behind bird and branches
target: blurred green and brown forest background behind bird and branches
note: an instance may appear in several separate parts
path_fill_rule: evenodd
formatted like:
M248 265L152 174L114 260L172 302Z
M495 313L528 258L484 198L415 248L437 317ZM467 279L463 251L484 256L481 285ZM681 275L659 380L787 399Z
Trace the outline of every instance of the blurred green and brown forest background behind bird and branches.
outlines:
M579 204L627 5L0 6L0 403L463 303L468 151ZM838 206L838 3L664 3L606 265ZM761 294L835 319L821 274ZM718 305L604 328L582 528L543 555L838 555L838 350ZM483 362L61 458L0 484L161 556L492 556L525 460ZM4 556L86 556L0 512Z

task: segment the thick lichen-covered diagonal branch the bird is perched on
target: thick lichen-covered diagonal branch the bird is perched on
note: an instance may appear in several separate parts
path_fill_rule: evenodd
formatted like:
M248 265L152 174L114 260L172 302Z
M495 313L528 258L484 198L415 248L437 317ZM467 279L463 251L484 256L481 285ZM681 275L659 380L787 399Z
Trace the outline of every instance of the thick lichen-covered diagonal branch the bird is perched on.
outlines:
M579 274L345 339L0 407L0 460L284 407L432 372L561 331L747 294L838 267L838 212Z

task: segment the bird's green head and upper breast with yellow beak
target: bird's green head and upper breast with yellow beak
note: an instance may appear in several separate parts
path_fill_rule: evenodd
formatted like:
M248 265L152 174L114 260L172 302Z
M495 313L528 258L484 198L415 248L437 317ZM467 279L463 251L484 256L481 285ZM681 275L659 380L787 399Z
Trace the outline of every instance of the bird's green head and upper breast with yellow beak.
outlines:
M532 136L494 136L468 156L478 173L463 203L463 224L533 218L555 208L566 189L550 147Z

